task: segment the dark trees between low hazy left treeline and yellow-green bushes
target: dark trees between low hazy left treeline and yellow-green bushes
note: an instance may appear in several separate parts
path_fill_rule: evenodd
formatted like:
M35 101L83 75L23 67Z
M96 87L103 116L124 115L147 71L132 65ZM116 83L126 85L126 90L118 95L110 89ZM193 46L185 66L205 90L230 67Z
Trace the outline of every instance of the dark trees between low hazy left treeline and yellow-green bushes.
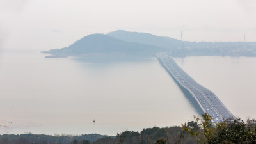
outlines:
M143 129L141 132L124 131L115 138L100 138L93 144L153 144L158 141L167 143L193 143L187 134L182 134L182 127L152 127ZM179 142L180 141L180 142Z

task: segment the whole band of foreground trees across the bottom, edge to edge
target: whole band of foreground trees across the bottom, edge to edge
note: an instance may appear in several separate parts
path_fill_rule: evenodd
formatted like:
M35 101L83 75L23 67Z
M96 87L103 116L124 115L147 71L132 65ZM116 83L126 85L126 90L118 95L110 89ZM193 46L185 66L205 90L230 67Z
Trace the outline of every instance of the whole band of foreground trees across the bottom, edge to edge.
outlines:
M254 143L256 120L246 122L233 118L212 124L211 116L204 113L193 121L173 127L152 127L138 131L124 131L116 136L85 134L81 136L47 136L36 134L0 135L0 144L174 144L174 143Z

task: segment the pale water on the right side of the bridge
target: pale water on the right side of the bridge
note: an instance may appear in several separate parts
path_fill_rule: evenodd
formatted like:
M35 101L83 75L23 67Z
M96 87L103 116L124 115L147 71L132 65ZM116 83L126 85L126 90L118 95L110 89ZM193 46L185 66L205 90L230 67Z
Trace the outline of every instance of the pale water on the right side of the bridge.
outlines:
M235 116L256 118L256 58L186 57L177 64L214 92Z

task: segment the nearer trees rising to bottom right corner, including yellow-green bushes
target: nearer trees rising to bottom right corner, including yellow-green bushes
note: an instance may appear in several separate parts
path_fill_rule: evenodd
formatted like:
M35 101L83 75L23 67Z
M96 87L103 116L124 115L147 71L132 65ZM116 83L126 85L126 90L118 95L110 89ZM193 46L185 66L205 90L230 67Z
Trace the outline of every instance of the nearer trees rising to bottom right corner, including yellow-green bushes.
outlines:
M256 144L256 120L246 122L231 118L213 124L211 116L204 113L182 127L153 127L141 132L124 131L116 138L100 138L93 144L174 144L174 143L254 143Z

